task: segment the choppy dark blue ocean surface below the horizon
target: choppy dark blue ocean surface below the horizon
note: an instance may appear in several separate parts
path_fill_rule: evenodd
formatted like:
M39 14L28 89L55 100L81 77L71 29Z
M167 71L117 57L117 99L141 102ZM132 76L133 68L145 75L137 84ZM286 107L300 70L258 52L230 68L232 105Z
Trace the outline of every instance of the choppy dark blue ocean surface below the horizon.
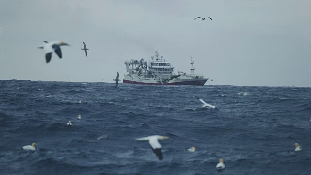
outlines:
M0 174L311 175L311 88L208 84L1 80Z

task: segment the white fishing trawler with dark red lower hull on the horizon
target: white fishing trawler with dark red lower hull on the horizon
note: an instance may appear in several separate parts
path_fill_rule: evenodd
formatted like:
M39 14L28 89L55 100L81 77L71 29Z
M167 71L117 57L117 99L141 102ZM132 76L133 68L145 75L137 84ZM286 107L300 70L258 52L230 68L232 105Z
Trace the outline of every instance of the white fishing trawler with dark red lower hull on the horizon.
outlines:
M127 74L124 74L123 83L143 84L143 85L198 85L202 86L208 78L203 75L194 74L194 61L190 64L191 73L186 74L178 71L173 73L174 66L169 61L163 59L158 51L155 51L155 57L151 56L149 63L144 59L125 61Z

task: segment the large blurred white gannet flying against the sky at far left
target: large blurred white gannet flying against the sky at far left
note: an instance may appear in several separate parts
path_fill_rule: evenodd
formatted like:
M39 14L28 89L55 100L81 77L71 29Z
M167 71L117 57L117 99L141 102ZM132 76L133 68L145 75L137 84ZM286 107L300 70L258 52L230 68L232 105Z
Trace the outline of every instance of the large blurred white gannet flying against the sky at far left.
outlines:
M45 41L47 42L47 41ZM59 58L62 58L62 51L60 50L60 46L70 46L69 44L65 42L59 42L59 41L53 41L53 42L48 42L43 46L38 47L39 49L43 49L45 51L45 60L47 63L51 61L52 58L52 53L55 51L55 53L58 55Z

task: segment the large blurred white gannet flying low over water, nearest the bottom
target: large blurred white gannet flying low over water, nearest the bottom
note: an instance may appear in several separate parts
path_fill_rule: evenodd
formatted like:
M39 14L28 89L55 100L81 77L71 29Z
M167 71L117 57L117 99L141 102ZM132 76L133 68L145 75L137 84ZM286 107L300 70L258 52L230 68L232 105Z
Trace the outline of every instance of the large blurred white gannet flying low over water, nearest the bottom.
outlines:
M163 159L162 146L161 146L161 144L158 141L159 139L160 140L166 140L166 139L169 139L169 137L153 135L153 136L138 138L136 140L149 140L149 144L150 144L150 146L152 148L152 151L155 153L156 156L159 157L160 160L162 160Z

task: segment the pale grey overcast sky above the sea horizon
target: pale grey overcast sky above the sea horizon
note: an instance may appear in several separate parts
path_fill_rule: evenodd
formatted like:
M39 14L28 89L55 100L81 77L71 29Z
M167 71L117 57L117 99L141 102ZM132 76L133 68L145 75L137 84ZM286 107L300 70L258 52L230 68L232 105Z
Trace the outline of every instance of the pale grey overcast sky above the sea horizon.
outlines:
M71 47L47 64L43 40ZM0 0L0 80L113 82L155 50L206 85L311 87L311 1Z

